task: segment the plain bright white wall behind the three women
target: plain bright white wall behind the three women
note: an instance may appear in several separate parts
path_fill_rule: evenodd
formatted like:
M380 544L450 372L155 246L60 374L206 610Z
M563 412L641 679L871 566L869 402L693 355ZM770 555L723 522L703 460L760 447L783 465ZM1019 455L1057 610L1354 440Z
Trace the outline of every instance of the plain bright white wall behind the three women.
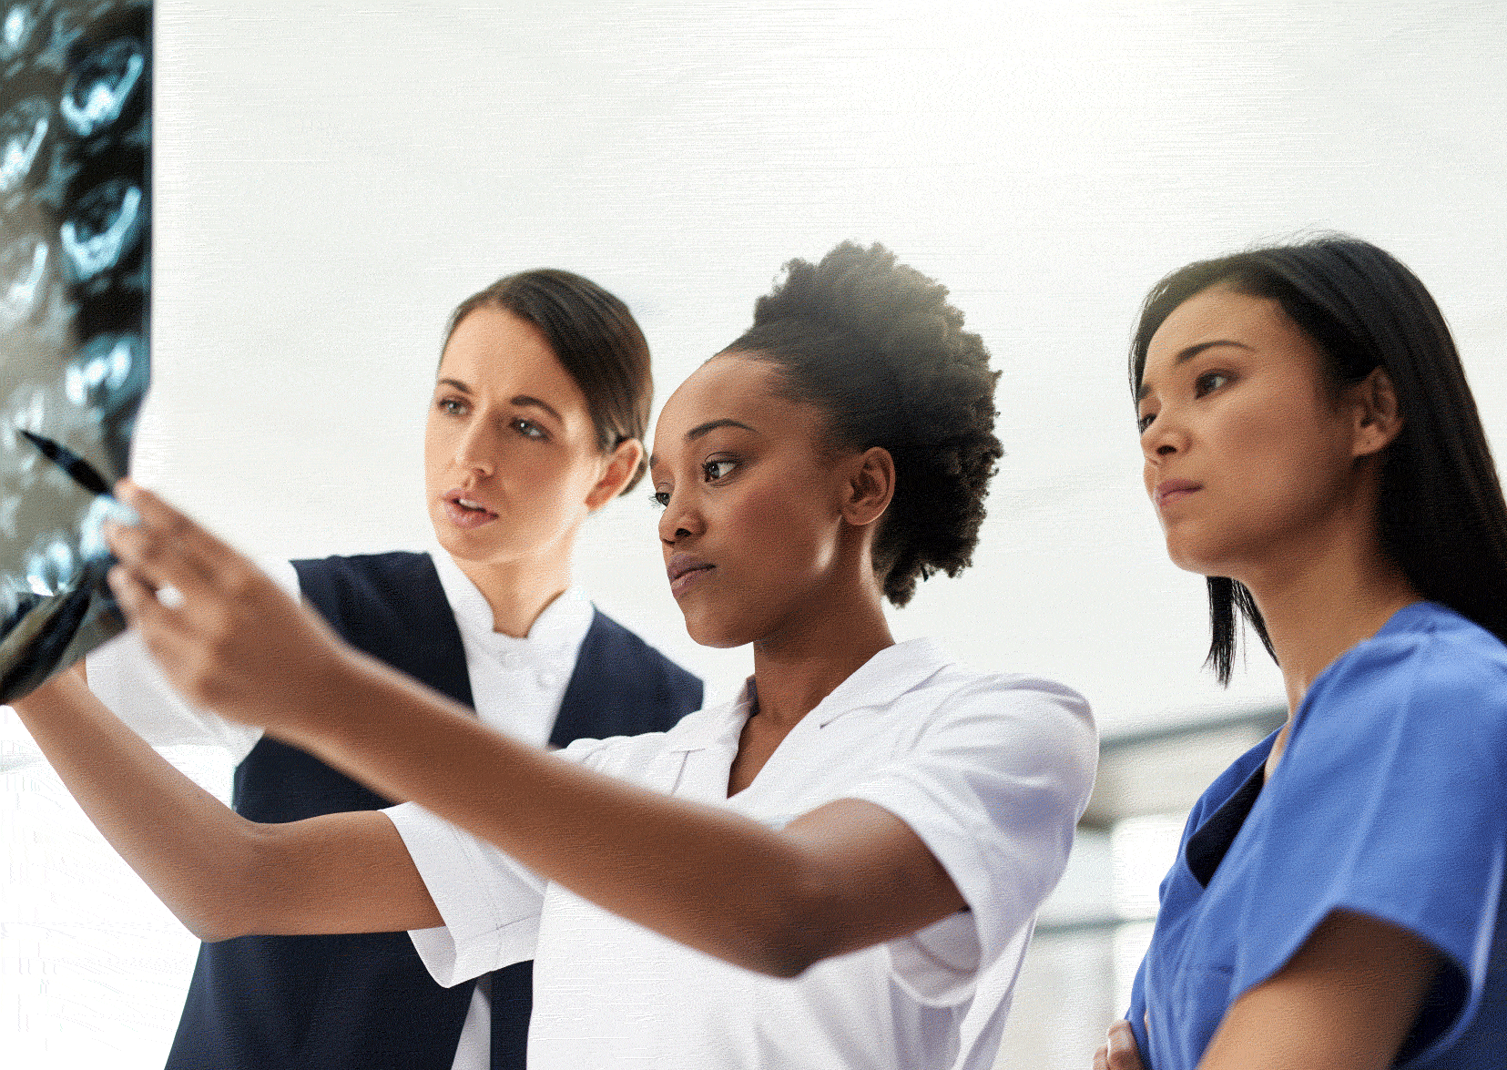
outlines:
M1228 692L1200 671L1203 582L1165 561L1141 491L1124 350L1159 276L1313 228L1376 241L1439 298L1507 442L1502 3L160 0L157 20L137 475L259 555L426 543L446 313L543 265L630 303L660 398L790 256L879 240L948 283L1004 371L1008 457L975 567L895 631L1059 677L1109 731L1279 693L1264 657ZM686 639L653 524L647 494L609 506L579 579L725 695L749 659ZM5 832L36 841L41 788L12 785ZM6 909L15 933L130 936L119 912L80 921L101 898L81 889L145 894L74 858L51 906ZM109 946L77 984L167 984L167 1011L74 1025L44 998L68 963L8 958L0 1044L36 1052L17 1065L112 1044L104 1062L160 1065L181 957Z

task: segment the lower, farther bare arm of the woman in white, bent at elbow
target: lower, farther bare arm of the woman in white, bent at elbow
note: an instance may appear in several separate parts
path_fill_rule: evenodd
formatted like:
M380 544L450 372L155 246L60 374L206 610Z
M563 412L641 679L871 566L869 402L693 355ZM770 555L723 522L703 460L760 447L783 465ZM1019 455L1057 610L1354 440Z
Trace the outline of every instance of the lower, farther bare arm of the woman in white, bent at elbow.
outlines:
M200 939L440 924L383 814L247 821L122 725L77 671L14 707L89 820Z

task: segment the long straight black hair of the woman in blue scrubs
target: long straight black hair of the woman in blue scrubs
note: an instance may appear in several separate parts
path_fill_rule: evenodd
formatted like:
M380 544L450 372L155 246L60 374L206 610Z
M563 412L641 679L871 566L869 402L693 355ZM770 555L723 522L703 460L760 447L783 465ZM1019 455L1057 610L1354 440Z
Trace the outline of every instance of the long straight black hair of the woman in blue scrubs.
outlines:
M1189 264L1162 279L1141 306L1130 345L1132 396L1157 327L1210 286L1281 304L1325 354L1335 384L1386 369L1403 426L1382 464L1382 549L1426 598L1507 642L1507 505L1450 327L1418 276L1391 253L1346 235ZM1236 610L1272 653L1251 592L1210 576L1209 665L1222 684L1230 683Z

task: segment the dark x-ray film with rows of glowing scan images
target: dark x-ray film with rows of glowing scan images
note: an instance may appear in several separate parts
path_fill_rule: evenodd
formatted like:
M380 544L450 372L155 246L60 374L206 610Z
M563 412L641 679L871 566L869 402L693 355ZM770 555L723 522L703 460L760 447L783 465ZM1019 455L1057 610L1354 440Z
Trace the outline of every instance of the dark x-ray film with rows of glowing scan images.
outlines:
M149 378L152 5L0 3L0 701L122 628L101 533Z

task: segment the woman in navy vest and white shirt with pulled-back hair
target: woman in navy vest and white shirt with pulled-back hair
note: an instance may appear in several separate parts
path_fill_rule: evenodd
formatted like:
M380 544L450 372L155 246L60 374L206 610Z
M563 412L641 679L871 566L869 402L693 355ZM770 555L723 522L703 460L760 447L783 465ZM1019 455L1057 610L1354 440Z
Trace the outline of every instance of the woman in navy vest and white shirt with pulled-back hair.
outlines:
M425 497L448 559L298 561L285 585L295 582L347 642L535 743L663 731L699 708L699 680L568 589L582 521L645 469L650 353L627 306L568 271L508 276L455 309L436 380ZM208 732L202 714L172 710L170 695L143 684L133 642L90 659L96 693L154 741L181 741L184 717ZM493 642L500 657L527 660L532 644L553 663L509 675ZM520 702L512 684L533 687L533 677L543 686ZM511 701L488 708L487 695ZM520 705L532 707L530 723L509 720ZM279 740L243 741L234 803L250 820L395 802ZM436 984L401 931L205 943L167 1067L521 1067L530 968L499 971L478 992Z

